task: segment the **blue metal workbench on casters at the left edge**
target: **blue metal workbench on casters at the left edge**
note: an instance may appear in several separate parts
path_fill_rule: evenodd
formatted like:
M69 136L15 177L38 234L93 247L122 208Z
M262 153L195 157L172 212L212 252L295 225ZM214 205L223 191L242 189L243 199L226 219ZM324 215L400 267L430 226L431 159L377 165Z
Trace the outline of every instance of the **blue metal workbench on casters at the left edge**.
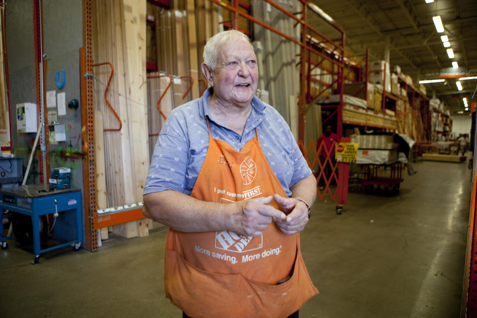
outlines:
M42 185L0 188L0 208L31 217L34 263L38 263L41 253L72 244L75 249L79 249L81 245L82 217L79 189L49 190L44 189ZM39 218L55 213L58 214L52 237L57 243L54 246L41 246Z

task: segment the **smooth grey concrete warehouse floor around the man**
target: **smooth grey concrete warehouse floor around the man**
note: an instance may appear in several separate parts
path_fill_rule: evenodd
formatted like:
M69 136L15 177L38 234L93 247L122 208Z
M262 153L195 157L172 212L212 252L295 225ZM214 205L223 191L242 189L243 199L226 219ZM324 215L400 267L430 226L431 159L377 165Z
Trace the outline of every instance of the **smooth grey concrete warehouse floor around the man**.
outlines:
M397 196L349 194L342 215L317 202L301 234L320 294L300 317L459 317L471 172L418 162ZM0 317L175 317L164 297L165 229L111 238L99 251L0 251Z

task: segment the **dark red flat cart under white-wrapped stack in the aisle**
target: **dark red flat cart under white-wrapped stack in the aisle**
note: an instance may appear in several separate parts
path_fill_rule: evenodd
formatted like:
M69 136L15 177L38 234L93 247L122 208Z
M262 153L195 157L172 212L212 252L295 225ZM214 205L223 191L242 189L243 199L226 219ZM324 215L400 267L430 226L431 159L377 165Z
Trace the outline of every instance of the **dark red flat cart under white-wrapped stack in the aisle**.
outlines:
M382 167L386 174L389 173L388 176L383 173L380 175ZM396 194L399 191L400 183L404 180L402 178L402 163L399 161L390 164L364 164L363 169L365 179L361 184L367 194L372 194L375 186L383 187L386 194Z

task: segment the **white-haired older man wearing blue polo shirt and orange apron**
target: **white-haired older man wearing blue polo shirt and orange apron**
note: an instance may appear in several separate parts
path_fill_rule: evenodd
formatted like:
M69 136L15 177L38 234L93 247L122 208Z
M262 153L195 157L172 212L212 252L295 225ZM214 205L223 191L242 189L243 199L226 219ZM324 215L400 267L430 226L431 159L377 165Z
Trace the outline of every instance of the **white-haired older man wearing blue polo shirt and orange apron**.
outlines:
M256 96L249 39L204 48L202 97L175 108L155 146L144 215L169 226L166 297L183 317L298 317L318 293L300 253L316 181L283 117Z

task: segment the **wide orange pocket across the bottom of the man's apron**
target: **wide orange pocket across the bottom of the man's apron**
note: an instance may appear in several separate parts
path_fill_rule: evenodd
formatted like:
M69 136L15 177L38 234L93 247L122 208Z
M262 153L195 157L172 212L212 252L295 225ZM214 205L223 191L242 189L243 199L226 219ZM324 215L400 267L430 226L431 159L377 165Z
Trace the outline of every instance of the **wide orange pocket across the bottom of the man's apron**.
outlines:
M288 317L318 293L297 252L292 277L280 285L250 281L241 274L201 270L166 249L166 297L194 318Z

